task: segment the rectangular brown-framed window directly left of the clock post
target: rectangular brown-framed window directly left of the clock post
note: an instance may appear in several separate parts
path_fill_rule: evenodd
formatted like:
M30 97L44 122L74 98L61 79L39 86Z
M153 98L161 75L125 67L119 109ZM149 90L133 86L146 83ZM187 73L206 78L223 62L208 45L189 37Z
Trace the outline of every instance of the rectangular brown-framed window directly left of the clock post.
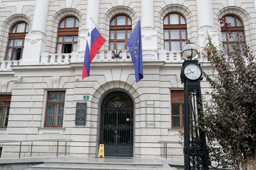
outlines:
M171 128L183 128L184 91L171 91Z

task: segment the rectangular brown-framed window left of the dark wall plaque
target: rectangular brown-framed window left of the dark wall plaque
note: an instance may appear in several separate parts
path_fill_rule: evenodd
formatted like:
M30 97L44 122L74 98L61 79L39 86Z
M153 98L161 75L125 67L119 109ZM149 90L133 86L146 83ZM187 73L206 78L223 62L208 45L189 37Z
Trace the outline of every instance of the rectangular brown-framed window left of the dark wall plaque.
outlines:
M48 92L45 127L62 127L65 92Z

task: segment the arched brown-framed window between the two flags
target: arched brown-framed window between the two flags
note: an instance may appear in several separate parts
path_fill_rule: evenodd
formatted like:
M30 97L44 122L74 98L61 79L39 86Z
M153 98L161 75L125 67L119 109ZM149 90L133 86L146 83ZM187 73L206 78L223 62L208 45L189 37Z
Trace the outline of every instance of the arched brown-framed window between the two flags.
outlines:
M131 19L128 17L128 15L116 15L111 19L109 26L109 44L112 49L120 50L124 44L124 49L127 49L127 44L125 41L130 36L130 34ZM127 53L127 56L130 56L129 53Z

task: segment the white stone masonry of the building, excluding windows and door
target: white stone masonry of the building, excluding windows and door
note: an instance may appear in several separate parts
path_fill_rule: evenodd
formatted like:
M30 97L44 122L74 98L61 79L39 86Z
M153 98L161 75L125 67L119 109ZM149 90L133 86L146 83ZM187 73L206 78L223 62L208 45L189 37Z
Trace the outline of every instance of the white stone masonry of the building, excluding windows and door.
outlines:
M221 30L218 19L227 14L244 24L246 42L256 51L256 11L254 0L2 0L0 1L0 94L12 94L7 128L0 129L5 140L72 139L68 155L95 156L99 148L99 114L103 97L114 90L128 93L134 102L135 157L163 157L160 140L178 141L171 128L171 90L183 90L180 81L182 59L175 51L164 50L163 19L170 12L182 14L187 22L187 38L199 47L209 31L218 46ZM144 78L136 83L131 59L112 59L107 43L91 64L90 77L82 80L83 56L90 18L109 39L110 20L127 14L132 28L141 19ZM55 54L57 27L66 16L79 20L78 52ZM9 32L13 24L29 25L21 61L4 61ZM125 55L124 55L125 56ZM207 64L204 70L210 69ZM23 77L22 80L8 82ZM76 80L78 78L78 80ZM209 85L203 80L202 93ZM65 90L62 128L44 128L47 92ZM75 125L76 102L89 95L85 126ZM155 127L146 126L146 102L155 104ZM147 108L147 122L154 120L153 108ZM29 145L29 144L28 144ZM43 143L42 143L43 145ZM168 144L168 157L183 158L179 144ZM56 148L40 146L45 151ZM47 155L38 149L36 155ZM29 146L22 147L28 156ZM35 146L36 150L36 146ZM40 151L39 151L40 150ZM63 155L63 148L60 148ZM3 145L2 157L17 157L19 143Z

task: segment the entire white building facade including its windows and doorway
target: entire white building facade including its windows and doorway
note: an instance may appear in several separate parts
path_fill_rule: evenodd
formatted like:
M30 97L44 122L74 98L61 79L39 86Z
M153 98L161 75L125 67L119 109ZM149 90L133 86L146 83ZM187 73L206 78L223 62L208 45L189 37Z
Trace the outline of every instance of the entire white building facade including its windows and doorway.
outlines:
M200 49L207 31L227 53L234 43L255 53L255 12L254 0L0 1L1 141L65 138L72 139L68 155L95 156L104 143L107 156L147 158L163 157L161 141L173 141L168 157L183 159L182 46L190 40ZM232 38L221 29L223 17ZM91 18L109 45L82 80ZM136 83L125 40L139 19L144 78ZM119 59L109 46L123 47ZM202 80L201 87L204 93L209 85ZM79 125L76 104L85 102L86 124ZM21 157L30 155L29 145ZM56 150L39 145L34 156ZM18 155L19 143L2 144L2 157Z

